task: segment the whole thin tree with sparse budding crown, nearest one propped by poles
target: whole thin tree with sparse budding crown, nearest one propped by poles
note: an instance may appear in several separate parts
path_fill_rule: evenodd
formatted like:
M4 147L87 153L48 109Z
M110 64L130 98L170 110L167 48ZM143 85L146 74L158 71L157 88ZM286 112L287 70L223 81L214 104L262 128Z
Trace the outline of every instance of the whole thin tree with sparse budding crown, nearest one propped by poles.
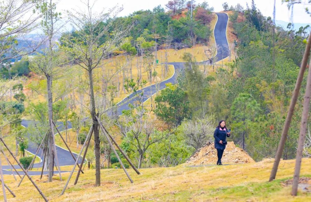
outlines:
M114 19L123 10L122 7L115 6L109 10L96 13L93 12L95 3L88 0L84 4L87 7L86 12L67 12L75 36L71 39L65 38L63 43L65 45L64 49L72 55L76 64L88 73L90 112L95 141L95 185L100 186L100 137L96 115L101 113L101 108L96 105L98 102L96 102L94 94L93 70L104 65L102 60L118 48L120 42L128 33L128 28L124 28L123 25L114 25ZM109 32L113 26L114 31ZM106 36L106 39L102 42L101 39L104 36Z

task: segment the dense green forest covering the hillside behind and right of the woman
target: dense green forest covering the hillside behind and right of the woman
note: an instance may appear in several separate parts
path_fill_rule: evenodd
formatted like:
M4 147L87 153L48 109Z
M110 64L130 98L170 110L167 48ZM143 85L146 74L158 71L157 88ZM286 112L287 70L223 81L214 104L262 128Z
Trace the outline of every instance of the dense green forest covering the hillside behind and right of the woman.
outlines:
M287 30L276 27L270 17L262 16L254 1L244 12L233 10L230 20L239 39L235 46L238 57L228 64L230 70L217 70L217 84L211 90L221 91L223 96L212 94L210 113L227 120L231 138L255 160L274 157L309 27L296 32L291 25ZM297 105L283 152L285 159L295 157L301 116Z

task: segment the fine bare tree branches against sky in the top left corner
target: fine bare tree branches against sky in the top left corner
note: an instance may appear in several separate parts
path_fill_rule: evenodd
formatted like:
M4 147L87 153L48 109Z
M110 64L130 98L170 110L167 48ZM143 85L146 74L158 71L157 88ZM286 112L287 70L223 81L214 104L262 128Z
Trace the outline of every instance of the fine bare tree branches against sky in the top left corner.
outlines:
M0 63L35 52L45 41L34 42L29 34L39 24L41 15L33 12L33 1L6 0L0 2ZM29 16L27 20L25 16ZM23 44L22 47L18 44Z

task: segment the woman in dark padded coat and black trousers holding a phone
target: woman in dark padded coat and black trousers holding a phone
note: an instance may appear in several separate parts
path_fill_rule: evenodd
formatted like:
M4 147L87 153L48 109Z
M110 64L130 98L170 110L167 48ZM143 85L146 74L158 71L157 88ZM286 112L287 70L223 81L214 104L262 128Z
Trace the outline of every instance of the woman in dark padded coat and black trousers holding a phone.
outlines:
M227 140L226 137L230 137L230 130L228 131L226 128L226 122L224 120L221 120L218 123L218 126L215 129L214 132L214 138L215 138L215 149L217 149L217 165L222 165L221 163L221 157L224 153L224 150L226 148Z

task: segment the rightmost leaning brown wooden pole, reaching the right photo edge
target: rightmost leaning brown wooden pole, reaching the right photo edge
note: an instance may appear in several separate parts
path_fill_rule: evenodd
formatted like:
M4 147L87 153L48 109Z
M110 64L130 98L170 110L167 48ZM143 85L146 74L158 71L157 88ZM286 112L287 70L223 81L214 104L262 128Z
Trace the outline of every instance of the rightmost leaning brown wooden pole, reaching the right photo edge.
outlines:
M309 38L311 38L311 35L309 36ZM309 63L309 67L311 67L311 60ZM304 140L306 138L307 122L308 122L308 116L309 116L310 96L311 96L311 71L309 70L306 91L304 94L304 104L303 104L303 110L302 110L302 116L301 116L298 149L297 149L296 163L295 163L295 172L294 172L293 186L292 186L292 191L291 191L291 195L293 196L297 195L302 151L304 150Z

